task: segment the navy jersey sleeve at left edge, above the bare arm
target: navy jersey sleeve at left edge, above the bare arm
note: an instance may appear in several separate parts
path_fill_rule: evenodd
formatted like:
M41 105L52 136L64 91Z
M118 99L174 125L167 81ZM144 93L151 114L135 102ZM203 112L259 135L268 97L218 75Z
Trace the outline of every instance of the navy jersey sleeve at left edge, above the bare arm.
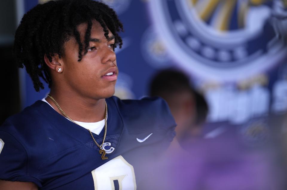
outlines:
M28 172L28 154L24 146L5 129L4 123L0 126L0 179L7 181L33 182L41 187L40 180L32 177Z

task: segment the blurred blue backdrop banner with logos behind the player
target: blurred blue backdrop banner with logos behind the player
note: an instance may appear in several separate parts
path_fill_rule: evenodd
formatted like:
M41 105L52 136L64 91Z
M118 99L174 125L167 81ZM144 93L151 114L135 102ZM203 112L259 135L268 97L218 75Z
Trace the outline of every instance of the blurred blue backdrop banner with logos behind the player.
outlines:
M123 22L116 50L116 95L147 95L150 77L175 67L188 73L210 106L209 123L268 128L265 118L287 110L286 4L236 0L106 0ZM25 1L28 11L38 2ZM23 107L42 99L25 75ZM264 130L263 130L264 131Z

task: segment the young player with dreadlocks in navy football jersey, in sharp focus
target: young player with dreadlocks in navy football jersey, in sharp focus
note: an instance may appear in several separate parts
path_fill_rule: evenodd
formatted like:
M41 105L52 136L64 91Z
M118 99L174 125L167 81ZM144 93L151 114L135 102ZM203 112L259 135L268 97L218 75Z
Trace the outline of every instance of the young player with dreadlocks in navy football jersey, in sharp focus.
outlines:
M115 92L123 25L92 0L39 4L14 43L42 101L0 127L2 189L141 189L147 163L167 148L175 122L158 98L121 101Z

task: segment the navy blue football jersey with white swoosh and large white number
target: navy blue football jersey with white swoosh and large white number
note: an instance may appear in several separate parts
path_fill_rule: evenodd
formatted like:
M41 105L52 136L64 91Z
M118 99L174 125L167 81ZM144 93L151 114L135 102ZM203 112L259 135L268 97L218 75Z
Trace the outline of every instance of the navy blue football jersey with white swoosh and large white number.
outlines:
M0 179L39 189L141 189L149 162L175 136L175 121L161 98L106 99L108 159L88 130L36 101L0 127ZM104 130L93 134L101 144Z

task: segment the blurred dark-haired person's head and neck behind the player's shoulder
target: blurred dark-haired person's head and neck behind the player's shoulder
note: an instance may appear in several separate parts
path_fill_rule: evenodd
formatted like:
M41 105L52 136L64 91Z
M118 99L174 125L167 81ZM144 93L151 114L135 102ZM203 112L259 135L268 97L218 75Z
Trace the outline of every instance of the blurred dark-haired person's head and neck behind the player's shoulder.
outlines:
M159 96L167 101L177 123L175 132L180 144L201 135L208 105L183 72L172 69L158 72L149 84L149 96Z

